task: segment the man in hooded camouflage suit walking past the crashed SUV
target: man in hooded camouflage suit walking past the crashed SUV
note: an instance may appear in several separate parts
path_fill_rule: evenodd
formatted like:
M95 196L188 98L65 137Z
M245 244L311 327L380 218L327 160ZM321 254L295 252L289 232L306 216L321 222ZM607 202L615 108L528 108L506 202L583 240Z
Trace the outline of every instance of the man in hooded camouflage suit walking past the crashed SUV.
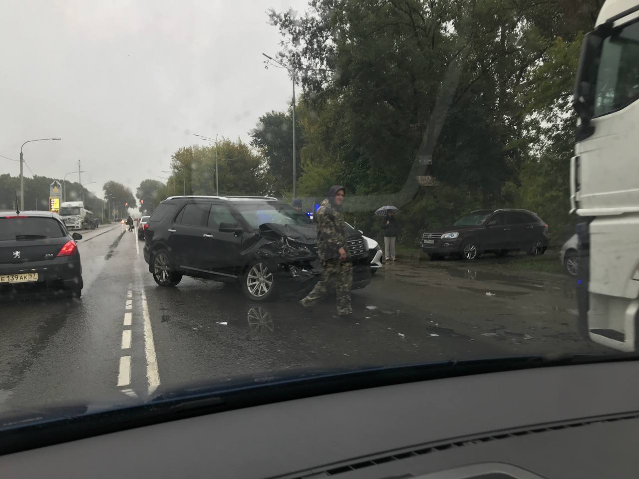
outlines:
M346 233L342 202L344 186L335 185L328 190L328 198L321 202L315 214L318 228L318 252L321 262L321 278L300 304L312 307L318 300L326 296L327 287L335 282L337 296L337 314L351 314L351 284L353 283L353 266L346 254Z

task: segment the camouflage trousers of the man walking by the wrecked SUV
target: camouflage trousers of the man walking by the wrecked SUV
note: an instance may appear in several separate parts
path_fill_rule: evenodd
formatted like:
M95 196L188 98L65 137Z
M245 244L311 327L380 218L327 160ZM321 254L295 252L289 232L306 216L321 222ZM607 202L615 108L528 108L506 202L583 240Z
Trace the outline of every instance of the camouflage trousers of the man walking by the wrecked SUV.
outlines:
M353 265L350 262L341 262L339 259L328 259L321 262L321 278L318 283L300 303L305 307L311 307L321 298L326 296L328 285L335 284L337 296L337 314L350 314L351 309L351 285L353 284Z

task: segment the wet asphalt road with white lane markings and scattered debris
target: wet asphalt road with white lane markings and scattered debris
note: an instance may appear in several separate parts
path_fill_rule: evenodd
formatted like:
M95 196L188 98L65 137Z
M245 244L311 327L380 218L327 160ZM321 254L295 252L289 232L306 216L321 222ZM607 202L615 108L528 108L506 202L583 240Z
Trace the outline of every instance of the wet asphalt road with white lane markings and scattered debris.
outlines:
M127 404L240 374L603 352L578 335L567 277L397 261L353 293L344 319L330 301L252 303L186 277L160 288L142 247L121 225L84 232L81 300L0 303L0 412Z

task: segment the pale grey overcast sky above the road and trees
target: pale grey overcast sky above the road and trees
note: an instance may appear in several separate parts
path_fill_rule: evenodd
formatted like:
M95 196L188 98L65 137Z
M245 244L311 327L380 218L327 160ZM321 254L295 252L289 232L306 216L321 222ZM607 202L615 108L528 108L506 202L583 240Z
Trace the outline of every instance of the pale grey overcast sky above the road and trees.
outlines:
M285 70L264 68L281 37L266 10L304 0L4 0L0 155L62 179L82 161L98 197L167 176L192 133L249 140L258 116L286 109ZM0 158L0 172L19 174ZM25 168L25 174L30 174ZM68 179L77 181L77 174Z

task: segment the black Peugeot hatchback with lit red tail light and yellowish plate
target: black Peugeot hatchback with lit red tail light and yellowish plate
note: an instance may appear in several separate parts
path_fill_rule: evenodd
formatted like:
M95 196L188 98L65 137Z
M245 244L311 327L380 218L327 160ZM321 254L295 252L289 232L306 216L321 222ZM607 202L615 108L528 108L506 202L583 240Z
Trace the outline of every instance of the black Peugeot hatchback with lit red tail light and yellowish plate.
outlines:
M79 298L82 264L75 241L55 213L0 212L0 294L52 290Z

